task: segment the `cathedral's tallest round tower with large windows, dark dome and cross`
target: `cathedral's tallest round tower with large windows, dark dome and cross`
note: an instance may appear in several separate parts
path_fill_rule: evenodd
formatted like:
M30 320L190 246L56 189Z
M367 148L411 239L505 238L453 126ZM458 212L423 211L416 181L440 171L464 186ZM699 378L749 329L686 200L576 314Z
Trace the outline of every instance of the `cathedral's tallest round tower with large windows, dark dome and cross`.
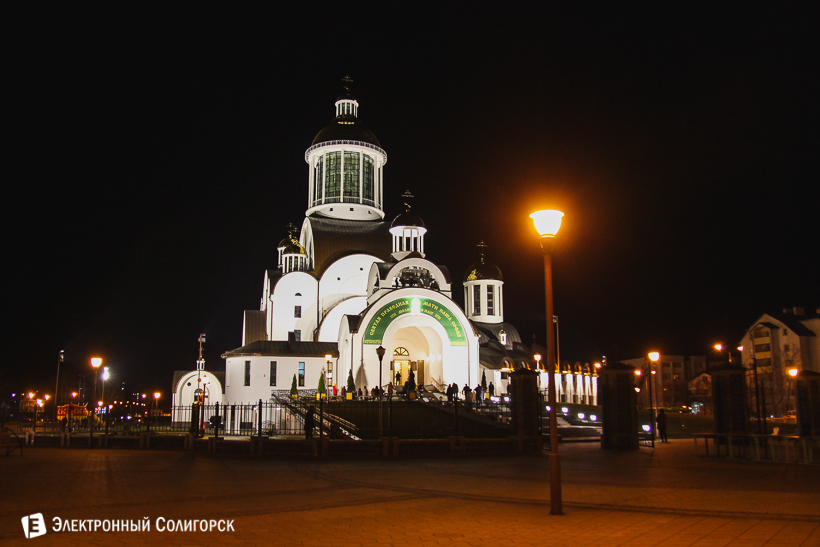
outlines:
M346 76L342 82L336 117L305 151L310 180L305 216L382 220L387 153L359 122L359 103L350 94L352 80Z

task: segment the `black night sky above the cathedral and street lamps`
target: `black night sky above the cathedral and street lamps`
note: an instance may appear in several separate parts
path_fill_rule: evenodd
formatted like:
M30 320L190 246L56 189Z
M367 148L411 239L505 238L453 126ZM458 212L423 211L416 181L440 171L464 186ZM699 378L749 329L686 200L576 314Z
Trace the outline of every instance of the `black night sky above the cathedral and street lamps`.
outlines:
M484 239L525 342L546 337L528 214L566 213L562 361L708 354L820 305L810 8L191 6L7 21L3 398L52 393L60 350L66 382L98 355L168 394L200 332L224 370L345 74L387 219L410 190L459 304Z

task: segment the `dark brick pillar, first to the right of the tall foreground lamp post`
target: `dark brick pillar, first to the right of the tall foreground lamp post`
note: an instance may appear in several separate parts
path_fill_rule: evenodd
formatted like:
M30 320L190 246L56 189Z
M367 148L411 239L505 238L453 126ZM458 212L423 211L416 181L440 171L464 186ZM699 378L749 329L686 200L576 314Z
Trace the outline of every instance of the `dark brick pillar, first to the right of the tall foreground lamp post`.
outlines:
M609 363L598 373L598 398L603 411L601 448L638 449L638 398L635 368Z

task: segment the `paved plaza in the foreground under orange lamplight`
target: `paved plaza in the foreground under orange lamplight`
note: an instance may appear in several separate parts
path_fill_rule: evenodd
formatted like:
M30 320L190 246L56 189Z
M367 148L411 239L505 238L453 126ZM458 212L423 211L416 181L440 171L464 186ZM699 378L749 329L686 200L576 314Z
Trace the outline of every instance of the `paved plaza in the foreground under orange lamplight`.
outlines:
M546 457L287 461L161 450L0 456L5 545L820 545L820 466L561 445L564 516ZM21 517L42 513L27 540ZM151 519L151 532L63 532L52 519ZM157 518L235 532L159 532Z

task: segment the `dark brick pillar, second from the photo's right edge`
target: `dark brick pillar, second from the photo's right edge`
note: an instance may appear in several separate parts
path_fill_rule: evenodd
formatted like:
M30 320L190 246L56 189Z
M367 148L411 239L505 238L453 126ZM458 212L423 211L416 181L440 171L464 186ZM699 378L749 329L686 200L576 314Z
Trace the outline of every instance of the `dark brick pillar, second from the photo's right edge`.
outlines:
M749 417L746 369L737 365L722 365L706 372L712 377L715 433L745 435L748 433Z

